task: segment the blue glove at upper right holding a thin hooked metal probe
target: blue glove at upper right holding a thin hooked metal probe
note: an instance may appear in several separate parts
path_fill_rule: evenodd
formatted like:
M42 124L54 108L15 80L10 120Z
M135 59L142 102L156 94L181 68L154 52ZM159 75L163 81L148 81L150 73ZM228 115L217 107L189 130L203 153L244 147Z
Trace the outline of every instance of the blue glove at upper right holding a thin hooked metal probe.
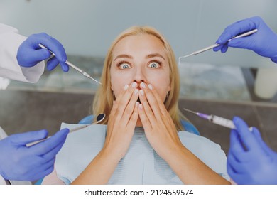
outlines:
M251 36L236 38L226 43L230 38L253 29L258 29L258 31ZM228 26L222 35L219 36L216 43L222 45L214 48L214 51L221 50L222 53L225 53L228 46L246 48L253 50L261 56L271 58L273 62L277 63L277 35L273 33L271 28L259 16L246 18Z

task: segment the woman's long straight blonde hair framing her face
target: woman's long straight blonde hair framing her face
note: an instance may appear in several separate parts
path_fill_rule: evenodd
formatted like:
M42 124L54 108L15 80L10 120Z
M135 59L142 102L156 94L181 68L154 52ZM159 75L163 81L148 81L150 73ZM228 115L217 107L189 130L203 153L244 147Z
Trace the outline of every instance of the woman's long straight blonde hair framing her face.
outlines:
M128 36L136 36L140 34L148 34L151 36L155 36L158 38L165 48L165 52L168 55L168 62L170 67L170 92L168 93L168 97L165 99L165 108L168 110L173 122L175 124L176 129L178 131L183 130L183 126L180 123L180 119L186 119L183 114L178 109L178 99L179 99L179 92L180 92L180 77L178 72L178 66L175 61L175 55L173 53L172 48L168 41L158 33L156 29L151 28L149 26L133 26L131 28L126 29L126 31L119 34L119 36L114 40L111 47L108 50L106 59L104 61L104 68L102 70L102 77L101 83L102 85L99 86L96 95L94 96L94 102L92 107L92 112L94 115L98 115L101 113L106 114L105 119L103 120L102 124L107 124L109 120L109 113L111 112L114 95L111 89L111 75L110 75L110 68L112 65L112 53L114 47L121 39L126 38Z

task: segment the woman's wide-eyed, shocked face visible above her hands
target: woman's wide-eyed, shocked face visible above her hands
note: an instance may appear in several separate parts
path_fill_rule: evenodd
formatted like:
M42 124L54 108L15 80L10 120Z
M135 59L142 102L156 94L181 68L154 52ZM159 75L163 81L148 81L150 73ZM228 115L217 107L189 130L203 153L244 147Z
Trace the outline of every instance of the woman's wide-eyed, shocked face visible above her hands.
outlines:
M164 101L170 91L170 68L163 43L155 36L127 36L114 47L111 85L115 97L132 82L151 84Z

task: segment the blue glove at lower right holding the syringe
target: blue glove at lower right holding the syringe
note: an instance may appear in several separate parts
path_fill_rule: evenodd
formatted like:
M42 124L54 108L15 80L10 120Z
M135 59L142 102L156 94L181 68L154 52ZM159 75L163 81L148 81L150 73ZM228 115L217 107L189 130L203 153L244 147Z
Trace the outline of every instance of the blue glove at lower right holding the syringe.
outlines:
M249 130L239 117L234 117L227 157L229 176L238 184L277 184L277 153L261 138L255 127Z

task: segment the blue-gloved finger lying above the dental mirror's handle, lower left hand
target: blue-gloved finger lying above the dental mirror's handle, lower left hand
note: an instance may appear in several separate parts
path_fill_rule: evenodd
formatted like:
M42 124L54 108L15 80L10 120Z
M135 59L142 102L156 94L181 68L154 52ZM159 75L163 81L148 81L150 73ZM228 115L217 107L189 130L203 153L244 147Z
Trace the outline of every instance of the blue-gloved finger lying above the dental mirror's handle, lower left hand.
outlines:
M22 134L13 134L10 136L11 142L16 145L26 145L33 141L38 141L40 139L45 139L48 135L46 129L40 131L30 131Z

